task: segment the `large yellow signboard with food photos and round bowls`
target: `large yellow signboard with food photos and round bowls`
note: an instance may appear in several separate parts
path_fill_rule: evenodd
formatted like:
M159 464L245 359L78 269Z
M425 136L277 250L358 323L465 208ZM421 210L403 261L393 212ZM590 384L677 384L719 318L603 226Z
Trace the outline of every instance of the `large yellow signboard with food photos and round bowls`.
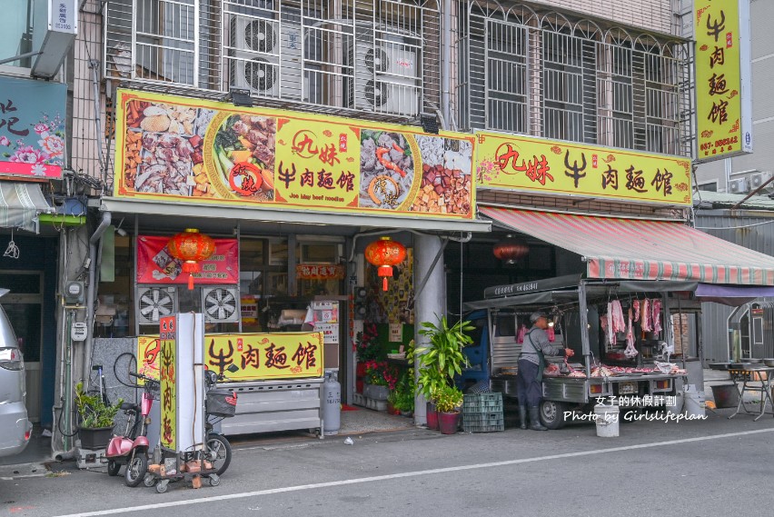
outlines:
M119 90L114 195L475 218L473 136Z

